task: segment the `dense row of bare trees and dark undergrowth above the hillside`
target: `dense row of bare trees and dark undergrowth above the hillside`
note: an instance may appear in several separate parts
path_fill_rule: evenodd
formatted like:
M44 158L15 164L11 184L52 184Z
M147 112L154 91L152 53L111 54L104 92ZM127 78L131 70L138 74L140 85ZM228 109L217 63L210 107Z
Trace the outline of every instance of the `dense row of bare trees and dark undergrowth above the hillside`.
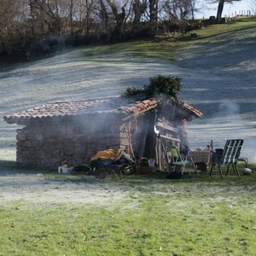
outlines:
M0 54L186 32L196 0L2 0ZM194 26L192 26L194 27Z

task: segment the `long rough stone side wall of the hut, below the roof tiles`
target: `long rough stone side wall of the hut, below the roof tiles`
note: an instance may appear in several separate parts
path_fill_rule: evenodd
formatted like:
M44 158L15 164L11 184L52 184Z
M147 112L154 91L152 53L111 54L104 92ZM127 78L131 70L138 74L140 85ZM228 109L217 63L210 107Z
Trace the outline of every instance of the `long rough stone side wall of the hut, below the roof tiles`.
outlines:
M24 166L55 169L67 164L75 166L90 162L99 150L129 148L124 124L117 121L91 122L49 121L31 123L17 130L17 162ZM95 124L95 123L94 123Z

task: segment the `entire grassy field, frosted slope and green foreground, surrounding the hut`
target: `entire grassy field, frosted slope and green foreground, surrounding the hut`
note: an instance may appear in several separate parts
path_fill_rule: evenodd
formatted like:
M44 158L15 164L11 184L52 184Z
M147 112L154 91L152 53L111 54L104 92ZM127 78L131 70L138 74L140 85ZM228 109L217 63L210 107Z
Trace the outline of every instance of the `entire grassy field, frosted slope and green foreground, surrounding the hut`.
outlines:
M22 169L14 161L17 126L0 119L0 255L256 254L255 20L209 29L192 42L189 35L159 38L5 65L0 116L119 95L155 74L180 76L180 99L204 113L188 125L191 146L243 138L253 173L170 180L157 172L102 181Z

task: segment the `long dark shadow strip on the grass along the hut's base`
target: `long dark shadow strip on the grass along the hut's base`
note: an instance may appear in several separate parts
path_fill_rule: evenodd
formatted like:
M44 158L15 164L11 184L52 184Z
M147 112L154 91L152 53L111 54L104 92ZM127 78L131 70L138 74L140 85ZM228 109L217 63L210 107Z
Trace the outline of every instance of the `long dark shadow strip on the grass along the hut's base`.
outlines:
M249 166L250 167L250 166ZM153 183L176 183L176 184L196 184L196 183L218 183L218 185L254 185L256 182L256 172L250 175L243 175L241 172L241 177L237 175L226 176L224 172L224 178L221 178L218 172L214 172L212 177L210 177L209 172L201 172L200 176L196 173L189 175L189 173L183 174L179 179L167 178L168 173L163 171L157 171L148 174L125 174L124 178L120 180L113 175L108 175L104 179L96 178L93 175L86 175L84 172L81 173L58 173L57 171L49 171L40 168L29 168L20 166L13 160L0 160L0 177L1 176L15 176L15 175L44 175L44 180L46 182L57 182L57 183L109 183L114 186L119 186L120 184L139 186L141 184L153 184Z

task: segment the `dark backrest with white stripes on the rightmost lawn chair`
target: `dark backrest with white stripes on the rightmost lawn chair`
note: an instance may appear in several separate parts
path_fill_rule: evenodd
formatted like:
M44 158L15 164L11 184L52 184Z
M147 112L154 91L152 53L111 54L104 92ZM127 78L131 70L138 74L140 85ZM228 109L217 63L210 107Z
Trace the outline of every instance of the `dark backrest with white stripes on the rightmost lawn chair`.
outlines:
M238 157L240 155L242 143L243 140L241 139L227 140L224 146L221 164L236 164Z

